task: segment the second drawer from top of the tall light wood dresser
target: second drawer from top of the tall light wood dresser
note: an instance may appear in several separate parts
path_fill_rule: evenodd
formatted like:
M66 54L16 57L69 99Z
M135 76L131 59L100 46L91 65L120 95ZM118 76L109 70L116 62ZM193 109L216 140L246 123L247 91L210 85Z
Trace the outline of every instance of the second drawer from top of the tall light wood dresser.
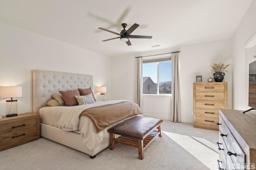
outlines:
M224 93L221 92L196 92L196 100L224 101Z

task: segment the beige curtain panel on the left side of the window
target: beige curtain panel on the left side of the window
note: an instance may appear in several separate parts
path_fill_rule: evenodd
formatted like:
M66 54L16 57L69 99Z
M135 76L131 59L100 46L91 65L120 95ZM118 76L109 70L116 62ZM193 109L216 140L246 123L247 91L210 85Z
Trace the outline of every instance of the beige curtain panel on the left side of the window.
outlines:
M142 110L142 57L136 58L137 60L137 78L136 78L136 98L135 103L140 106Z

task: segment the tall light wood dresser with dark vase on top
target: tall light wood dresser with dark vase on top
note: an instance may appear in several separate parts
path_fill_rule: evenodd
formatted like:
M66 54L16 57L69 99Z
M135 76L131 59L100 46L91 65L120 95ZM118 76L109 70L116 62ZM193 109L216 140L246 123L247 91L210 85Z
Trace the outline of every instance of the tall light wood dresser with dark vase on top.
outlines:
M194 127L218 131L219 109L228 108L228 83L193 84Z

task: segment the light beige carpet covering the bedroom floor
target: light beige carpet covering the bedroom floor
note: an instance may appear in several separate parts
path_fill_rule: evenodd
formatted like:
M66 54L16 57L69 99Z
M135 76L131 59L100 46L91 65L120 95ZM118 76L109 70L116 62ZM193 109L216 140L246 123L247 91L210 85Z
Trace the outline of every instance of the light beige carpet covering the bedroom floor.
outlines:
M216 170L218 131L191 123L162 123L157 137L138 159L138 149L116 144L90 159L88 154L40 137L0 152L1 170Z

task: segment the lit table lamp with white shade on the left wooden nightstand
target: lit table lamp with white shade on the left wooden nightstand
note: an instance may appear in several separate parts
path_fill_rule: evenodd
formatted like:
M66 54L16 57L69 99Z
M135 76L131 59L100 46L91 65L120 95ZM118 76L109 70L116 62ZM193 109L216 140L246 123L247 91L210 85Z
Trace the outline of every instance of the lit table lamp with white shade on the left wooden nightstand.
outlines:
M18 100L12 98L22 97L22 86L1 86L0 98L11 98L6 100L6 117L16 116Z

